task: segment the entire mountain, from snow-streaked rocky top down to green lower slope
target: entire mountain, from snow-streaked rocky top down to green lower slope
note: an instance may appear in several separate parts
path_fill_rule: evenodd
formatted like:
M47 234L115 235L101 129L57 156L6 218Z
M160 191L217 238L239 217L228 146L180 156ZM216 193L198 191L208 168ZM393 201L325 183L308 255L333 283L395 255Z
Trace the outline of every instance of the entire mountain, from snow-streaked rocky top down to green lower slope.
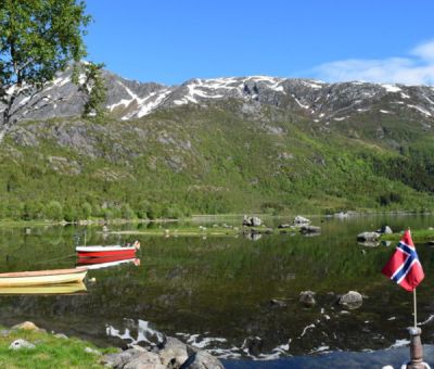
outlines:
M433 207L433 87L104 78L103 122L80 117L68 72L17 102L0 217Z

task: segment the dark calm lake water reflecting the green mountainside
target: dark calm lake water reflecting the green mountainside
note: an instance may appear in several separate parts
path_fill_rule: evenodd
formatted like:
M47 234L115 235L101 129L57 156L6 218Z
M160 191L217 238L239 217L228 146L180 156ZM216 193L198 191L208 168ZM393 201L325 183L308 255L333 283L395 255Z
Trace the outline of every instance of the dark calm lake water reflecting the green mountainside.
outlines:
M316 218L314 225L321 226L320 236L264 236L257 241L123 237L141 241L140 266L89 270L94 282L88 280L87 292L78 294L0 295L0 323L31 320L119 346L155 342L164 332L221 358L243 359L240 367L258 358L288 364L289 356L405 344L412 295L380 272L395 244L363 247L356 236L382 225L394 230L427 228L434 217ZM115 236L103 240L98 227L0 228L0 270L75 267L74 237L85 230L88 244L118 241ZM434 249L417 247L426 275L418 288L418 320L423 342L433 344ZM312 308L298 302L305 290L317 294ZM358 309L336 304L336 296L349 290L366 296Z

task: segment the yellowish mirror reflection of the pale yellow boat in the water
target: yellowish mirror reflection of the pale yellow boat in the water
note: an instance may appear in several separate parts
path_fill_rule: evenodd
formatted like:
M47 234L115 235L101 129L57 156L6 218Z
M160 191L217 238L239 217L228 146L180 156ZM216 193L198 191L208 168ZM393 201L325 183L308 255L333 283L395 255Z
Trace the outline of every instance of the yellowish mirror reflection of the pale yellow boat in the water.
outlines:
M65 295L86 292L84 282L72 282L47 285L0 287L0 295Z

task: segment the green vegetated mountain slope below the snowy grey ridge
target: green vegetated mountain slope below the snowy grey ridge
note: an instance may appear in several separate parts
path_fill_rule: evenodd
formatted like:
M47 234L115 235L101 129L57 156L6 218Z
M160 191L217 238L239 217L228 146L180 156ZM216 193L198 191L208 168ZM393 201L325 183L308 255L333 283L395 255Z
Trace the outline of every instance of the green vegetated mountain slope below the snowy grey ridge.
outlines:
M432 209L433 135L382 104L328 123L230 99L23 122L0 145L0 217Z

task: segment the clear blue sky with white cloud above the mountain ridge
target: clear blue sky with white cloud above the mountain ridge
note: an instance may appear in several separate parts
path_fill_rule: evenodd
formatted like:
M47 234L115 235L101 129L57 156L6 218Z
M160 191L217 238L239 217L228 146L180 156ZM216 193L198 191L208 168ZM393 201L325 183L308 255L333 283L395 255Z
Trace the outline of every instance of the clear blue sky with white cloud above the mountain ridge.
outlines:
M125 78L434 84L433 0L87 0L89 60Z

